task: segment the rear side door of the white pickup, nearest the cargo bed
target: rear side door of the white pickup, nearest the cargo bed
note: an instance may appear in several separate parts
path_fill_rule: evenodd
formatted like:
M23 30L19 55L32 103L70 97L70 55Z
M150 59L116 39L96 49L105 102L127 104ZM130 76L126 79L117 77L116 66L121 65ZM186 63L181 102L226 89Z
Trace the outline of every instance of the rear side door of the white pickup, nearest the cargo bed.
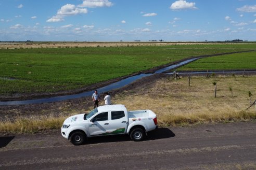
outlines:
M123 134L127 130L128 118L124 111L111 111L109 134Z

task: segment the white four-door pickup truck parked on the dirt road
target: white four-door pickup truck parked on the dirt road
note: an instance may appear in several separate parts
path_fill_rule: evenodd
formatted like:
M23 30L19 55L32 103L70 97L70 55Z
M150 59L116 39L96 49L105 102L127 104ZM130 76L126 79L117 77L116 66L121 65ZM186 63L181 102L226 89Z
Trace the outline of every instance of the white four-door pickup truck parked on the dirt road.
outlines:
M69 117L61 127L61 135L73 145L82 145L87 137L117 134L129 134L132 140L140 141L155 129L157 116L151 110L127 111L124 105L106 105Z

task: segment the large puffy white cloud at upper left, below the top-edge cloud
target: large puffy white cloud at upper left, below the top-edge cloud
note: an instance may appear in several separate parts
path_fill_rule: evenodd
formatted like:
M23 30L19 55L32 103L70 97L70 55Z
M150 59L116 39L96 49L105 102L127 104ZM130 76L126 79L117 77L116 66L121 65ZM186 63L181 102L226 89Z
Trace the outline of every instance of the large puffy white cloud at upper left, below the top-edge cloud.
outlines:
M86 8L77 8L75 5L67 4L62 6L56 16L53 16L52 18L48 19L46 22L60 22L63 21L64 17L66 16L74 16L78 15L80 13L87 13Z

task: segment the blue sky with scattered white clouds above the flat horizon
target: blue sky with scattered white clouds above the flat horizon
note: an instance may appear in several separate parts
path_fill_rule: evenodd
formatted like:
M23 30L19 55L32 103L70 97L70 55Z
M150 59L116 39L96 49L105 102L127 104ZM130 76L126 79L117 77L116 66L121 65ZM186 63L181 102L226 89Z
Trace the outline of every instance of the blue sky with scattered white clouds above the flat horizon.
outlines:
M256 40L255 0L0 0L0 40Z

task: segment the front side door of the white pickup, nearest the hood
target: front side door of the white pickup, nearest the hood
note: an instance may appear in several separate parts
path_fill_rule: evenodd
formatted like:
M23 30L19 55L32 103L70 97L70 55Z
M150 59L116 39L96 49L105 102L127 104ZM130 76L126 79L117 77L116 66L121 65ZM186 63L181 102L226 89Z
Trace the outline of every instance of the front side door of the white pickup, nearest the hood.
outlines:
M92 122L92 120L94 122ZM89 123L89 133L91 136L107 135L109 132L108 112L101 112L91 119Z

